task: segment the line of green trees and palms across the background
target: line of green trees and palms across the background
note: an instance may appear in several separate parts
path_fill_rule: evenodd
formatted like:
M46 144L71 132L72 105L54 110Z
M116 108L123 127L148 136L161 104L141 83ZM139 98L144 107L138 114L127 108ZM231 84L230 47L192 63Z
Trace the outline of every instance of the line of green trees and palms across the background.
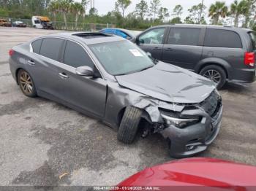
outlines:
M127 12L131 0L116 0L113 10L99 15L97 8L89 9L89 0L0 0L1 17L31 18L32 15L48 15L54 22L110 23L116 27L144 29L163 23L214 24L256 28L256 0L234 0L230 6L216 1L210 7L195 4L182 19L184 7L177 4L173 9L162 6L161 0L140 0L135 10ZM206 17L210 19L207 20Z

